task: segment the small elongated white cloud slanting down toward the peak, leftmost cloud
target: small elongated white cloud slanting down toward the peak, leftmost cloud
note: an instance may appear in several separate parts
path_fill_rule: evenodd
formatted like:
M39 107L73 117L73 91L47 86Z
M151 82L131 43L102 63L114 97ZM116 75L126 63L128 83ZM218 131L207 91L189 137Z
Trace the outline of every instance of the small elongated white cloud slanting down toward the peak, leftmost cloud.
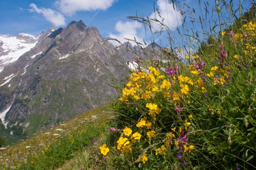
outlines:
M37 12L38 14L43 14L43 16L53 23L56 27L65 25L65 18L62 14L59 12L56 12L50 8L37 8L37 5L35 3L30 4L31 9L29 9L31 12Z

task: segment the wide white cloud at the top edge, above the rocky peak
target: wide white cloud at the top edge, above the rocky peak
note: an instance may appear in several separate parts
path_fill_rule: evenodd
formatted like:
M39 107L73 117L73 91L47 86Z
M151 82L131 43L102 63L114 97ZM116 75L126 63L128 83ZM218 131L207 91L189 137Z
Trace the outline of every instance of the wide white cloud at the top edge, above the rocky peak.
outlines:
M72 16L76 11L106 10L116 0L57 0L55 3L66 15Z

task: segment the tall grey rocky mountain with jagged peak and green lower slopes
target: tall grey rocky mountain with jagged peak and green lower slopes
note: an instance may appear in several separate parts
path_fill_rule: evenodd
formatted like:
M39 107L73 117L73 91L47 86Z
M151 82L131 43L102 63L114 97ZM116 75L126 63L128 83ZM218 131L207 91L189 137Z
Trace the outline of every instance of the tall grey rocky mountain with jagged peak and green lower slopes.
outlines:
M5 132L29 135L50 128L109 102L117 95L111 81L126 81L126 59L81 20L44 33L37 41L0 72L0 118L5 126L0 128Z

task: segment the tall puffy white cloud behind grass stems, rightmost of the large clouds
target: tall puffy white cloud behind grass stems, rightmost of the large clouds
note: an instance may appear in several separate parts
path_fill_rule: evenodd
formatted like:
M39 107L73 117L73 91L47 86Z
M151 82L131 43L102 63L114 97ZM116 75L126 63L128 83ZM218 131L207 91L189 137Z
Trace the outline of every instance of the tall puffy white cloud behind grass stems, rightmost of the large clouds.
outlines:
M159 21L163 20L163 23L168 27L169 30L175 30L178 26L182 24L182 15L180 11L177 10L175 5L174 9L173 4L170 3L168 0L158 0L157 5L161 17L159 17L157 12L153 12L149 16L149 18L157 19ZM161 24L157 21L152 21L151 27L153 32L159 32L162 30ZM165 31L165 29L162 31Z

